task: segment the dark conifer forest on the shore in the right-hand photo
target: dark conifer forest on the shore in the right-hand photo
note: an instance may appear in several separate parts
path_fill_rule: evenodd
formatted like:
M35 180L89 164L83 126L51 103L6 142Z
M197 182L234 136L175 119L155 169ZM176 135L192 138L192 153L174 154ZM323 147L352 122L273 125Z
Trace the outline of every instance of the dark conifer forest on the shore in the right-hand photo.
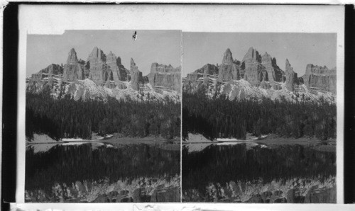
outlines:
M182 93L182 136L200 133L209 139L235 137L246 133L260 136L317 137L325 140L337 135L337 106L324 99L293 103L285 98L272 101L225 96L207 98L203 93Z

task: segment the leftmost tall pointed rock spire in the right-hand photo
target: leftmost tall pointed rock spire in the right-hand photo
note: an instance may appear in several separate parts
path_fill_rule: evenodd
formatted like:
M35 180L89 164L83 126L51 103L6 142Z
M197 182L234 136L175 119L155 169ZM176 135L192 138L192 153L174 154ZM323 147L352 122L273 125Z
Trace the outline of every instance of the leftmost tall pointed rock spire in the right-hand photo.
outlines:
M218 81L239 80L239 65L234 63L231 50L224 52L222 64L219 66Z

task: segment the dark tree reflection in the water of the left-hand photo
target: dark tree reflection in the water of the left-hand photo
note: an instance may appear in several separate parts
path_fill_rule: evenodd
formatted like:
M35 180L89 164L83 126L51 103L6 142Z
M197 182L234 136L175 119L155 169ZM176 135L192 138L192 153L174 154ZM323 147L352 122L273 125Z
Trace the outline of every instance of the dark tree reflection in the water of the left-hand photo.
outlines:
M91 144L57 146L48 152L26 151L26 190L48 189L54 183L109 181L138 177L175 176L180 173L180 152L146 144L126 145L119 149Z

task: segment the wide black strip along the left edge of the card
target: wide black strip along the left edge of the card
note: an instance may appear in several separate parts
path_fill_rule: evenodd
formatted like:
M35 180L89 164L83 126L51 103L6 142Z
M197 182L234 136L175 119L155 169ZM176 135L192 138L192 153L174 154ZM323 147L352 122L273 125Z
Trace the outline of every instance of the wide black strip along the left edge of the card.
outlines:
M16 202L18 4L4 8L1 210Z

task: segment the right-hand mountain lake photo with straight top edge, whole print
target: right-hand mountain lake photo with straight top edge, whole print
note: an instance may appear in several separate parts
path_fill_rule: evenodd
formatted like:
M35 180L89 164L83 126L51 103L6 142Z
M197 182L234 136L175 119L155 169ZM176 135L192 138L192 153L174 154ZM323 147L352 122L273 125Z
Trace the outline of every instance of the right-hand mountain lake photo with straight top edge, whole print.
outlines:
M337 34L182 35L182 202L337 203Z

